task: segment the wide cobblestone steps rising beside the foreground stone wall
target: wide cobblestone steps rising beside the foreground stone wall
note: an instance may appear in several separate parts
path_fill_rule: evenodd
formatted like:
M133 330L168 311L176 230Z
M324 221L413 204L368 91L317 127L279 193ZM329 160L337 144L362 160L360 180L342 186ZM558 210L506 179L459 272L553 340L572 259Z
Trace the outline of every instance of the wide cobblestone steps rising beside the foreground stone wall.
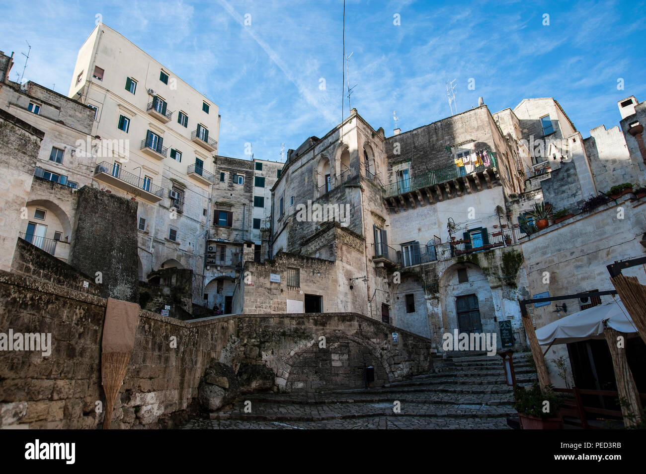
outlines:
M531 383L534 371L517 360L517 381ZM436 370L369 390L244 395L233 408L189 420L183 429L508 429L506 418L516 411L500 359L465 357Z

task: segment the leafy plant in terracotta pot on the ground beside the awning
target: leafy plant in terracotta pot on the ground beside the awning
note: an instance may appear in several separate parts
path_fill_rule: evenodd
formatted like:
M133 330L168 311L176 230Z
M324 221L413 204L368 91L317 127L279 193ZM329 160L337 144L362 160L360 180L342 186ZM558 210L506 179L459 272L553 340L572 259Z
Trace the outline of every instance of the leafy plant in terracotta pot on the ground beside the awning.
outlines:
M523 430L562 430L560 402L552 385L547 386L545 392L541 391L538 382L534 382L530 389L514 386L514 408ZM546 407L548 411L544 411Z

